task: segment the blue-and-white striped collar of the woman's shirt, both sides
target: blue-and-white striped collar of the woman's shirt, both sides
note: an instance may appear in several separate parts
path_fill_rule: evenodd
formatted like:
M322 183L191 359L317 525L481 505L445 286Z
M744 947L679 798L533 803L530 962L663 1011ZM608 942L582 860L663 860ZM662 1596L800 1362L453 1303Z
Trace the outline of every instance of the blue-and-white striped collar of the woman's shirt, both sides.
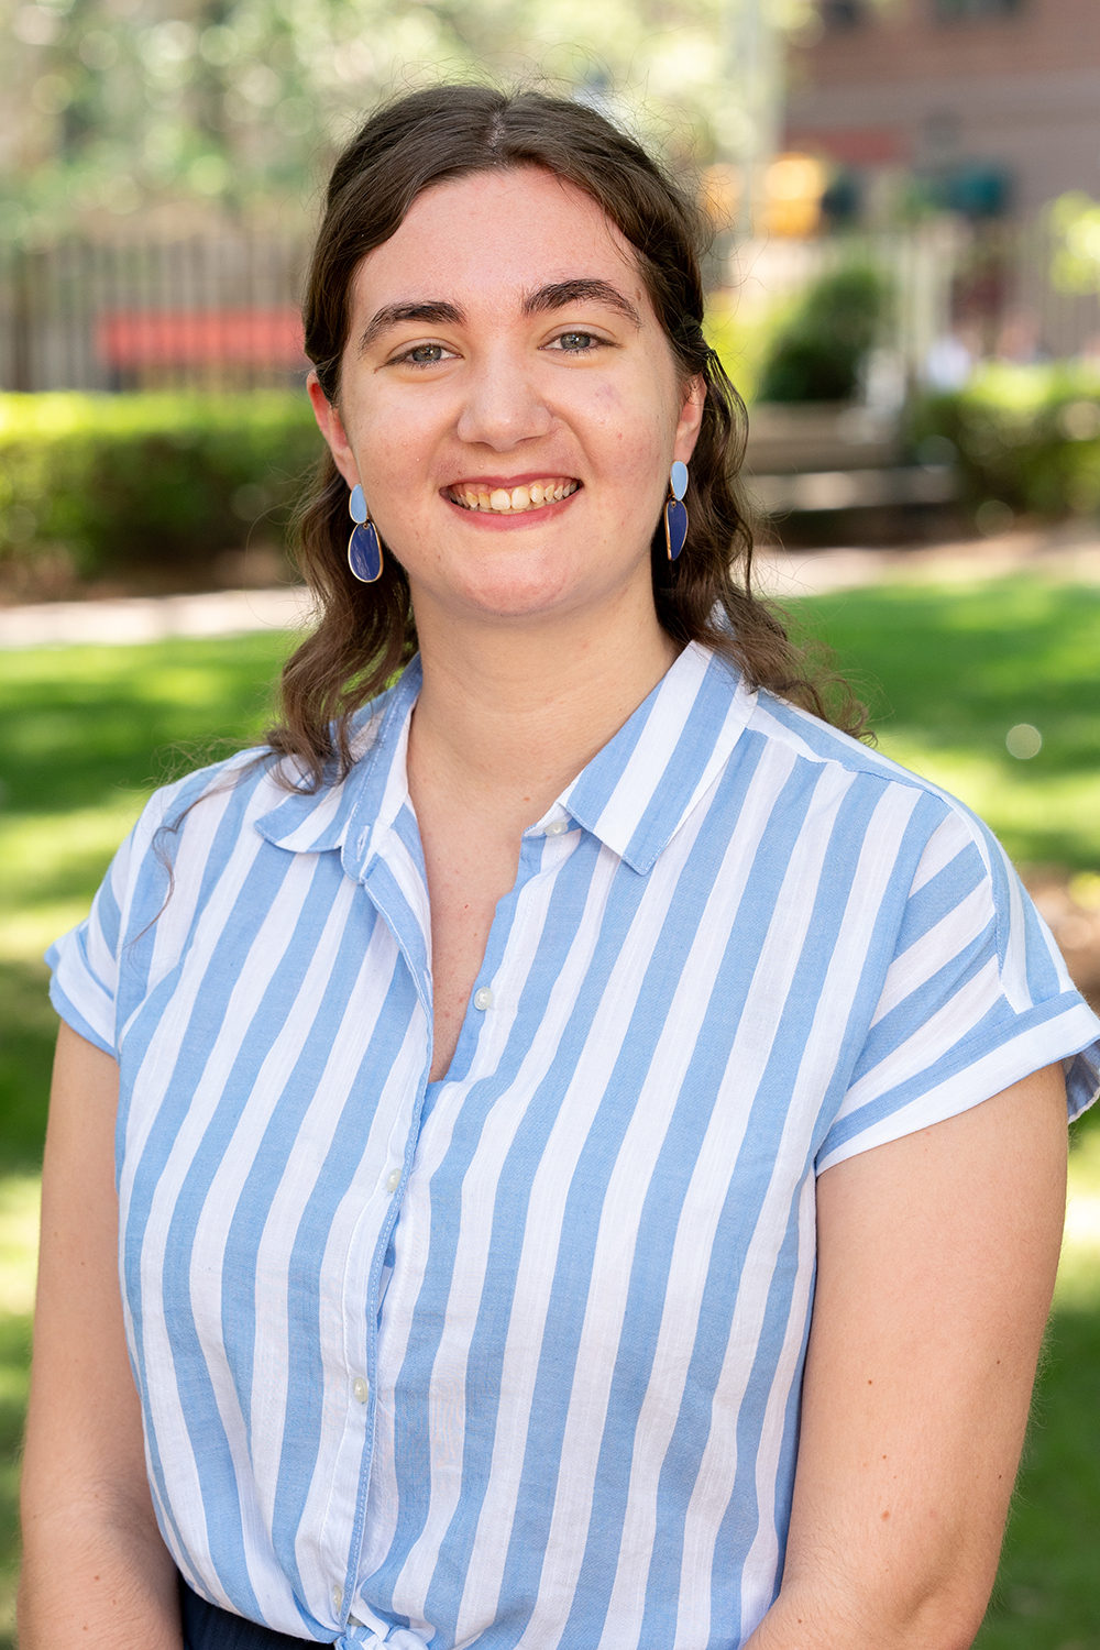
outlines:
M356 761L346 779L315 794L294 792L257 818L261 835L295 853L340 848L345 868L361 881L409 802L406 747L419 691L421 663L414 658L394 688L361 713L353 734ZM635 871L648 873L714 784L754 703L755 695L724 658L688 644L529 835L572 818Z

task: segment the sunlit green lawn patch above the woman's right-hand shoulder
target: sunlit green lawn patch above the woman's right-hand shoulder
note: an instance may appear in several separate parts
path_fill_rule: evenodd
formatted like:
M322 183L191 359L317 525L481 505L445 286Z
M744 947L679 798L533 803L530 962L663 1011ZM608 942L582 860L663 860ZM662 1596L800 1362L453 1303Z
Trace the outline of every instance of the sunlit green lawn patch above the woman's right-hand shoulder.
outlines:
M1019 863L1100 870L1100 587L882 584L788 604L871 706L879 746L961 797ZM1009 756L1031 723L1042 749Z

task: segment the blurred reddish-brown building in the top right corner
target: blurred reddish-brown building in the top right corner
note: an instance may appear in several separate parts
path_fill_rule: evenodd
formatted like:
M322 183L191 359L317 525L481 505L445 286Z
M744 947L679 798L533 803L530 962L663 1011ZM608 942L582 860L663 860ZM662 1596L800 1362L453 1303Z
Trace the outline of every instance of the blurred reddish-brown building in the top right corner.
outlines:
M830 162L838 224L1097 196L1100 0L821 0L792 53L787 147Z

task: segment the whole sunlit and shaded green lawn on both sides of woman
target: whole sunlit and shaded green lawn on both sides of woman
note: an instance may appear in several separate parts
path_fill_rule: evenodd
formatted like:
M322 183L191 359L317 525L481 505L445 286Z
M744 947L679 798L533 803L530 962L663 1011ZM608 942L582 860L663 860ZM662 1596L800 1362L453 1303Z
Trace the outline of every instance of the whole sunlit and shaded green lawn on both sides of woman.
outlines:
M1100 589L886 584L790 606L836 648L889 756L978 808L1019 861L1100 871ZM285 650L285 637L261 634L0 653L0 1645L56 1026L41 950L86 912L155 784L259 734ZM1031 761L1004 746L1018 723L1042 734ZM1100 1129L1080 1132L1074 1190L981 1650L1100 1650Z

